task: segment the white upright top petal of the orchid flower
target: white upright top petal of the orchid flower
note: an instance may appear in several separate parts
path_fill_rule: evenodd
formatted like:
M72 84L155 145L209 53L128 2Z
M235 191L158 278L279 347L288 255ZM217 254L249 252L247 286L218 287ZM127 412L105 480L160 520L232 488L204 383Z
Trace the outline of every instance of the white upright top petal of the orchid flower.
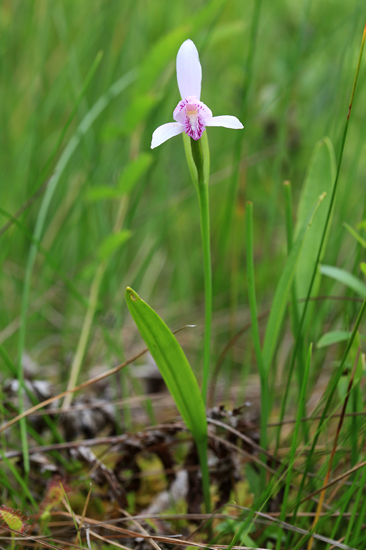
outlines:
M202 68L192 40L182 43L176 56L176 79L182 100L188 96L201 97Z

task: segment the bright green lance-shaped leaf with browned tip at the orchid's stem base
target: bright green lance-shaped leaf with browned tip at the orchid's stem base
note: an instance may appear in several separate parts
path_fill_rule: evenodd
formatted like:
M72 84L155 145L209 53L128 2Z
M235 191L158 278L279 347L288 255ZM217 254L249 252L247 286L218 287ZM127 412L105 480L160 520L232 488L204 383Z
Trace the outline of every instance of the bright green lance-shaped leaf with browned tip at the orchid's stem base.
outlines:
M130 287L126 302L175 404L196 442L206 442L207 421L201 392L187 357L162 318Z

